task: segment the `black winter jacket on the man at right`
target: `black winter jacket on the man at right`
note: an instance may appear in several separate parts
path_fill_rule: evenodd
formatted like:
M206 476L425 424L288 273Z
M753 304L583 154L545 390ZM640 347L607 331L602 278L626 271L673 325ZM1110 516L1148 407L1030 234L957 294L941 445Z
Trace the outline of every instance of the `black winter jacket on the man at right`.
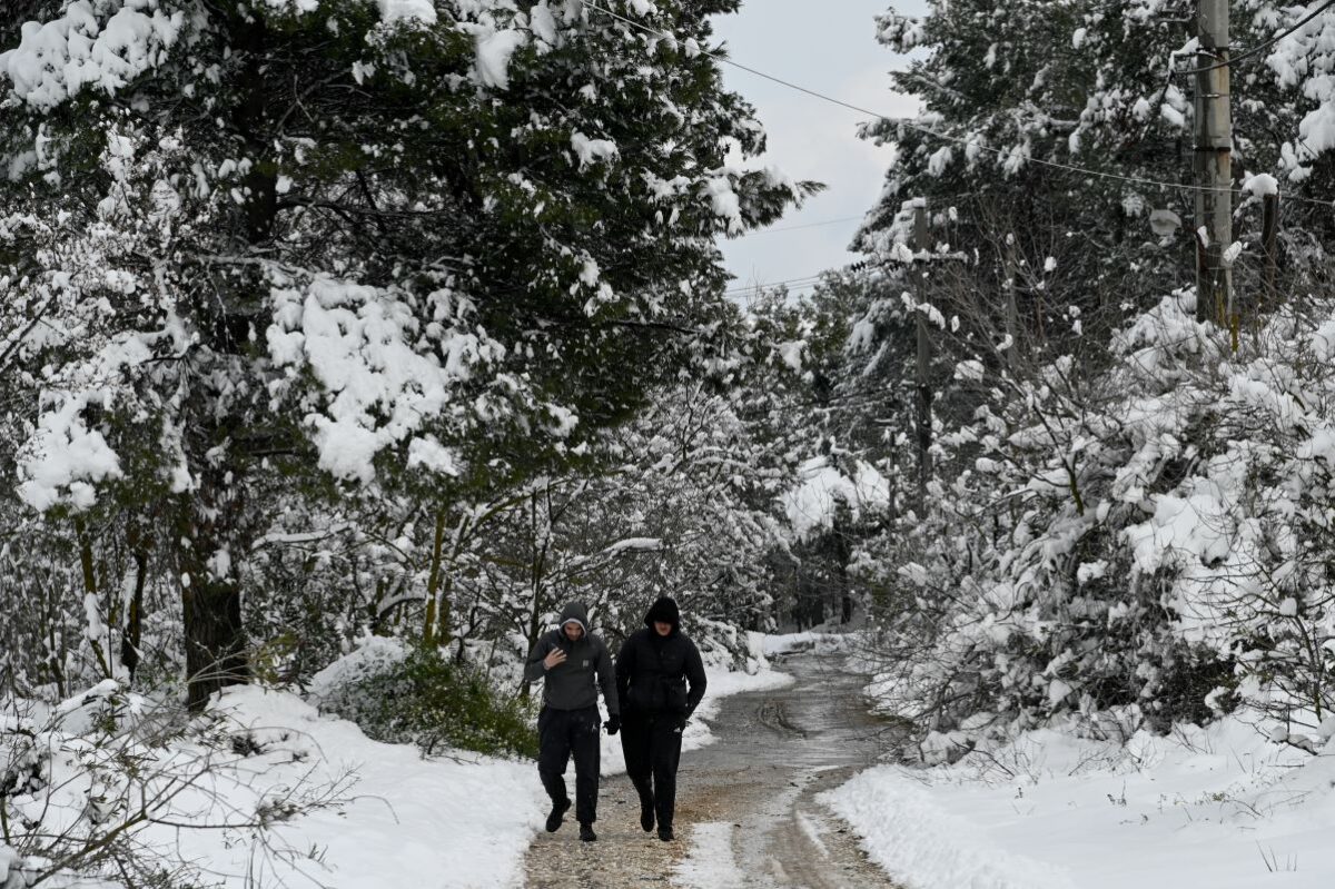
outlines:
M617 654L617 697L625 714L690 715L705 697L700 649L676 621L666 637L653 629L651 618L645 623L649 626L631 633Z

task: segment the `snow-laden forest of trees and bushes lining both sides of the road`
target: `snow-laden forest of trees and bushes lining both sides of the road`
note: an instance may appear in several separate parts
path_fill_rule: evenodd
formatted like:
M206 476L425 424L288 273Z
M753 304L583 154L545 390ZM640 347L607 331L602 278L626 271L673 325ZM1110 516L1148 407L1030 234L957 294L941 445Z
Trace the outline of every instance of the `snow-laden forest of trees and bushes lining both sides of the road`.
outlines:
M718 239L820 191L737 160L738 0L5 4L0 885L135 860L134 809L43 825L49 733L115 797L219 690L371 643L331 707L529 752L570 598L619 642L674 595L738 659L860 627L926 762L1335 735L1335 11L1232 8L1231 330L1193 4L928 5L868 21L924 111L862 127L862 262L736 300Z

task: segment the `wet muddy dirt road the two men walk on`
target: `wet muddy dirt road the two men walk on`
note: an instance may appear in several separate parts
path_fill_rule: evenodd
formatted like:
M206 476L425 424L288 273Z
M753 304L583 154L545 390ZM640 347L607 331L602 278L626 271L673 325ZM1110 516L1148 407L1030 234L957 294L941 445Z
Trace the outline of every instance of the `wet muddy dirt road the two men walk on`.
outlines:
M838 655L776 665L796 682L724 701L717 741L682 754L677 841L641 832L630 781L603 778L598 842L574 825L541 834L527 889L893 889L816 796L870 765L884 725L861 701L862 677Z

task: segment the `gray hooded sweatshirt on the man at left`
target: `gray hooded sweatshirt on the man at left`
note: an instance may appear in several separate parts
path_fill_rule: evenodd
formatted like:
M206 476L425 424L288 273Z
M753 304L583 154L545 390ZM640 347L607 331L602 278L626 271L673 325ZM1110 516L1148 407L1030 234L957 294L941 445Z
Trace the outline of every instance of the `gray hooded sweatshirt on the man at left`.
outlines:
M566 638L566 623L575 621L583 635L575 642ZM551 649L561 649L566 659L550 670L542 665ZM529 653L523 667L529 682L543 679L542 703L553 710L582 710L598 703L598 689L607 705L607 715L619 715L617 706L617 673L611 654L602 639L589 631L589 610L581 602L570 602L561 609L561 625L542 634ZM594 679L597 678L597 686Z

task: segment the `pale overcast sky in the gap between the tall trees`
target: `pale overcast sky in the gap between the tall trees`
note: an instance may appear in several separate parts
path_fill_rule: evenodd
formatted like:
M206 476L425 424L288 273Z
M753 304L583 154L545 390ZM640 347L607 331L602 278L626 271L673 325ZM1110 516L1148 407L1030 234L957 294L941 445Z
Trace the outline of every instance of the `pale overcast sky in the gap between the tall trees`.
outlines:
M890 92L889 71L905 57L876 41L876 16L889 0L744 0L741 12L716 19L730 57L765 73L886 115L912 115L917 104ZM925 0L894 7L920 15ZM857 137L864 117L846 108L724 65L729 88L756 107L769 137L765 163L826 191L790 211L770 230L724 243L730 286L774 283L857 259L845 247L881 191L889 150ZM792 228L856 216L837 224ZM788 231L778 231L788 230Z

